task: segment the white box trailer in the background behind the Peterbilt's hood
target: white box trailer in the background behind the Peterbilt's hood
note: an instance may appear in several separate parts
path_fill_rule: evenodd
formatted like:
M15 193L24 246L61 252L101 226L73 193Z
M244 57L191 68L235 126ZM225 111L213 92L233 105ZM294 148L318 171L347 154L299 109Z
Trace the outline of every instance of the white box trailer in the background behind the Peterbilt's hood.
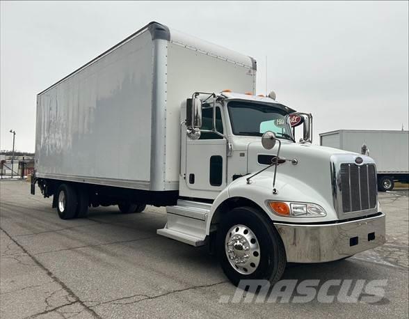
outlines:
M378 190L409 182L409 131L337 130L319 134L320 145L364 153L376 161Z

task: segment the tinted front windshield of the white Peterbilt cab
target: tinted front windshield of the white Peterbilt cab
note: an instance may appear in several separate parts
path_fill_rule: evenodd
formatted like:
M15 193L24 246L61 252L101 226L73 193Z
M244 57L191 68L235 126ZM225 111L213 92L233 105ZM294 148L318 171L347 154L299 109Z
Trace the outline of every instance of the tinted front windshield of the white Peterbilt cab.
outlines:
M261 137L271 131L280 139L294 141L286 111L268 104L232 101L227 104L234 135ZM284 107L284 106L283 106Z

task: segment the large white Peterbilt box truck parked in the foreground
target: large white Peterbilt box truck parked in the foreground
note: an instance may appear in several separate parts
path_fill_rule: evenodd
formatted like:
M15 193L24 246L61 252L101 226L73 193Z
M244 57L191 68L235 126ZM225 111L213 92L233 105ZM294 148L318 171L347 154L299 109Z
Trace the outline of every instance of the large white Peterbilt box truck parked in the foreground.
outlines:
M234 284L383 244L374 160L312 145L311 114L256 96L256 71L151 22L38 94L31 193L62 219L166 206L157 233L208 244Z

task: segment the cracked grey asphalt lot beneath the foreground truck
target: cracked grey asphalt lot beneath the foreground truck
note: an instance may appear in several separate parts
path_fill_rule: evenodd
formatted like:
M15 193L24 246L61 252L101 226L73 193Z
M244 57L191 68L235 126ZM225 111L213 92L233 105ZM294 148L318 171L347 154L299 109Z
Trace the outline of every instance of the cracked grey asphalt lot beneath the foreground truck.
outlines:
M291 264L284 279L385 279L379 302L220 302L236 287L206 247L157 235L165 210L91 208L61 220L29 182L0 182L1 318L408 318L408 191L379 194L387 243L347 260ZM220 299L221 298L221 299Z

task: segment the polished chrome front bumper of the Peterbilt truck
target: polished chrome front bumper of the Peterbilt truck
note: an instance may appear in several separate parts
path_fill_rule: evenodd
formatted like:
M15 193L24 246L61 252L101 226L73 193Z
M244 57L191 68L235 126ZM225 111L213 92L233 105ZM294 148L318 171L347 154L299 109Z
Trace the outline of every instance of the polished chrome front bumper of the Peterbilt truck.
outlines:
M287 261L323 263L358 254L385 243L385 214L336 224L275 223Z

